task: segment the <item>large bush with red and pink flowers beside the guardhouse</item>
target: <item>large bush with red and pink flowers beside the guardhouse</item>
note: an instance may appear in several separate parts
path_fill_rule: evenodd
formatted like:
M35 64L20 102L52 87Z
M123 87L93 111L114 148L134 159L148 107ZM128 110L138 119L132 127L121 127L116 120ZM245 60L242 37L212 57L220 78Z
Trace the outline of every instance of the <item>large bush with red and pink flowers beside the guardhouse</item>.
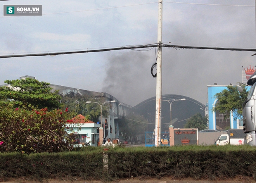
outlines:
M61 152L72 150L73 131L68 110L28 110L0 106L0 152Z

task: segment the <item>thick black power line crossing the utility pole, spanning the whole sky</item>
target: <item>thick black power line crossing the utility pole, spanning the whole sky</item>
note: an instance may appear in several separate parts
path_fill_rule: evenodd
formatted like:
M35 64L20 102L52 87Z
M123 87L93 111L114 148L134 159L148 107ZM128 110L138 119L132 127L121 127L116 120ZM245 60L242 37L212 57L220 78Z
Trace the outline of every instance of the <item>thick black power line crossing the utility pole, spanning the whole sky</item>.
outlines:
M229 50L229 51L249 51L256 52L256 49L246 49L246 48L222 48L222 47L192 47L192 46L182 46L182 45L169 45L169 44L147 44L147 45L133 45L133 46L122 46L116 48L104 48L104 49L94 49L94 50L81 50L81 51L69 51L69 52L46 52L46 53L37 53L37 54L12 54L12 55L2 55L3 58L12 58L12 57L40 57L40 56L55 56L55 55L67 55L67 54L82 54L82 53L92 53L92 52L107 52L113 50L133 50L139 48L152 48L152 47L166 47L166 48L183 48L183 49L200 49L200 50Z

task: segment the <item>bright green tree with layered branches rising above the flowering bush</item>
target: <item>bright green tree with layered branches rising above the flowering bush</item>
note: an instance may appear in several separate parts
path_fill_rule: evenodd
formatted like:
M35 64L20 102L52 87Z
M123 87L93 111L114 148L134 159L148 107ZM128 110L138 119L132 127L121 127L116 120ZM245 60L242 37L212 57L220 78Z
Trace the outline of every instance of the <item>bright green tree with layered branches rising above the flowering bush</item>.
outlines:
M51 93L50 83L25 78L4 81L9 86L0 87L0 103L12 104L14 107L34 106L39 109L58 109L61 96L58 91Z

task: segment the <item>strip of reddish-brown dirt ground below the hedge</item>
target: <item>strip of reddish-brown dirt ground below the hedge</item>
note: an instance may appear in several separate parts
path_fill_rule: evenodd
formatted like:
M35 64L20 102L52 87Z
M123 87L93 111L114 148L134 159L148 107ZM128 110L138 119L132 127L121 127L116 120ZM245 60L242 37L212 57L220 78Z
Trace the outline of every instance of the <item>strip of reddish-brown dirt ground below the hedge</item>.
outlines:
M26 178L19 179L9 179L7 181L0 181L0 183L256 183L255 180L251 177L237 176L234 179L228 180L193 180L193 179L182 179L176 180L171 177L166 177L162 179L149 178L130 178L116 181L87 181L87 180L78 180L76 178L59 180L59 179L44 179L42 181L33 181L27 180Z

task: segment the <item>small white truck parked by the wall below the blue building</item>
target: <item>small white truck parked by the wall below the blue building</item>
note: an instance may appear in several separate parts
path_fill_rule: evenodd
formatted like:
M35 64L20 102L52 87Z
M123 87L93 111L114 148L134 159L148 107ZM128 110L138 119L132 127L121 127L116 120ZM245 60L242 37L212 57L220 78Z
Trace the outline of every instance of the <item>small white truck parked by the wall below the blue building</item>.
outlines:
M244 131L243 129L229 129L228 134L220 135L216 142L216 145L242 145L244 144Z

